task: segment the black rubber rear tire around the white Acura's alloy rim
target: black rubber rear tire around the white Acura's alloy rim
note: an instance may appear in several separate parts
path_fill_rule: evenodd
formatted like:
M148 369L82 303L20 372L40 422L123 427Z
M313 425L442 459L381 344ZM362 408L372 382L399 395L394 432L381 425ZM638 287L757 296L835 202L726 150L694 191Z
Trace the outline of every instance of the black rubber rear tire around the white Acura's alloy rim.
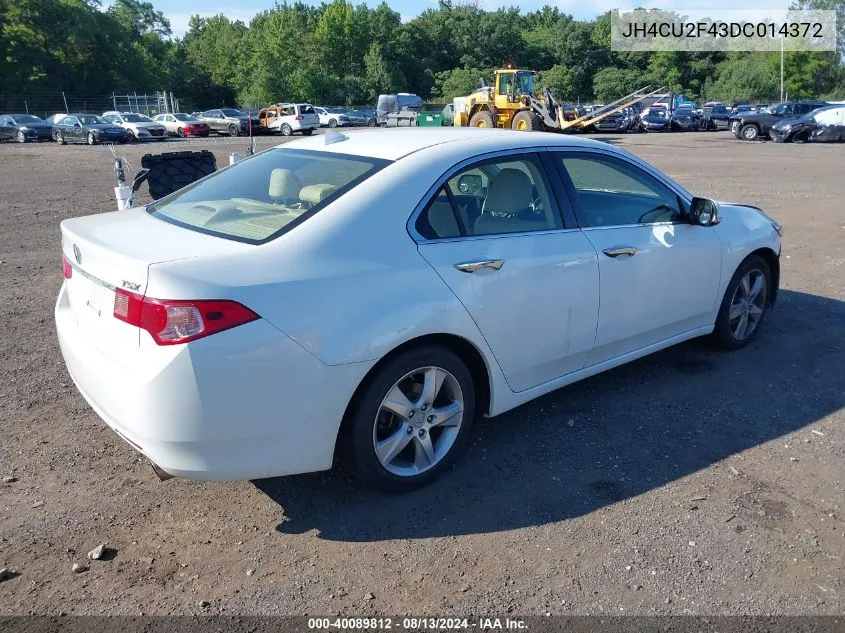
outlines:
M375 425L389 390L403 376L423 367L445 369L457 380L463 395L464 417L457 437L439 462L417 475L396 475L389 472L376 455L373 442ZM466 445L474 417L475 384L466 364L446 348L418 347L387 361L368 378L344 420L344 447L350 466L362 483L385 492L409 492L430 483L450 467Z

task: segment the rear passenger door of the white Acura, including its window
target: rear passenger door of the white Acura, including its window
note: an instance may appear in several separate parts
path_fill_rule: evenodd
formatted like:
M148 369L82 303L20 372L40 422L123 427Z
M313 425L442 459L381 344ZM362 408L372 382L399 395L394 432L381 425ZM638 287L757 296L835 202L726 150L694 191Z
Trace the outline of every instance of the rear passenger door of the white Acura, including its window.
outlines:
M514 391L581 369L593 347L598 257L568 216L540 154L517 152L451 170L409 227Z

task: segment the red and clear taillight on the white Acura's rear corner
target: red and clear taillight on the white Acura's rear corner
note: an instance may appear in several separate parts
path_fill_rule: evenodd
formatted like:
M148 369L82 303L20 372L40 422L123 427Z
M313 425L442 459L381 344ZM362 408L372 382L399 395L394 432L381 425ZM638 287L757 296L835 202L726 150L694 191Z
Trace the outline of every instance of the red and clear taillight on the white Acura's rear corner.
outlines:
M117 289L114 316L150 333L159 345L189 343L259 318L237 301L170 301Z

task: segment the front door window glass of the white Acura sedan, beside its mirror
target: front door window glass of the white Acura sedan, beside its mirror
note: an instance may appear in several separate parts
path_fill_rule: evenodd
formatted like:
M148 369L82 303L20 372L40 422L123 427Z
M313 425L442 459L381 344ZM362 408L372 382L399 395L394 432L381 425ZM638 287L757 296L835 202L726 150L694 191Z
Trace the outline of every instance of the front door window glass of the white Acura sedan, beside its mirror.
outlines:
M582 227L626 226L681 221L677 194L627 161L602 155L558 152L578 198Z

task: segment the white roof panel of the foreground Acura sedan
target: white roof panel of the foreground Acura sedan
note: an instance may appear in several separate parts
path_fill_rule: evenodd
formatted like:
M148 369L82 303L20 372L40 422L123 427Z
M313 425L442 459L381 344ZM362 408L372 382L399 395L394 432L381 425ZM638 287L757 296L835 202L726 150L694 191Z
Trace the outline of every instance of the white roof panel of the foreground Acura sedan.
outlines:
M337 132L334 132L337 134ZM285 143L282 147L312 149L338 154L354 154L386 160L398 160L414 152L444 143L460 142L468 154L495 152L527 147L601 147L612 145L588 138L552 132L516 132L513 130L477 129L469 127L396 128L342 132L346 140L326 144L324 135L306 137Z

